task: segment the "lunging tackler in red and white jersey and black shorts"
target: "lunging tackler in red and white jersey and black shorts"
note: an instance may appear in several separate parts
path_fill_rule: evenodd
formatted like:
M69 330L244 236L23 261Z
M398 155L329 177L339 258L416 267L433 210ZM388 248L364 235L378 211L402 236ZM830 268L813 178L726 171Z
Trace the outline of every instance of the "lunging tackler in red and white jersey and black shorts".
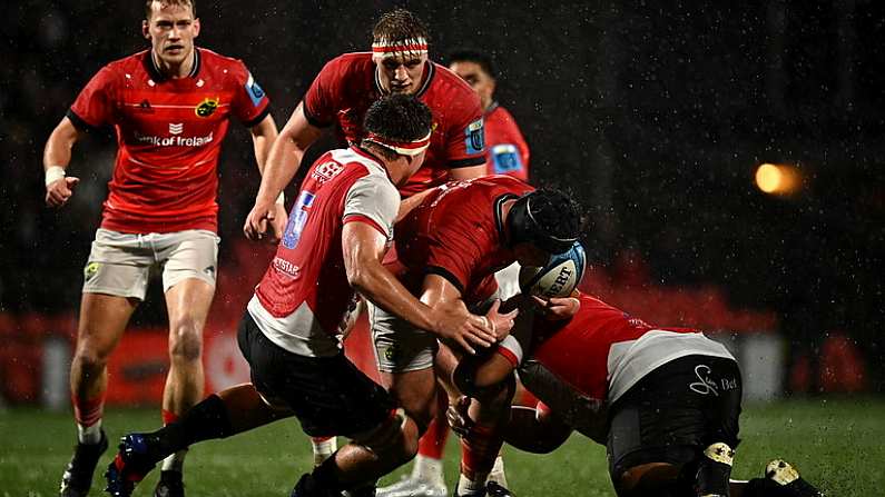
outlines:
M365 128L358 146L332 150L314 162L277 255L247 306L238 341L252 384L209 396L158 431L124 437L106 474L111 495L130 495L173 450L292 415L311 436L341 434L354 440L304 475L293 495L374 489L380 476L414 455L417 427L344 356L342 330L356 312L358 295L465 348L500 338L490 327L509 330L513 314L493 308L473 316L460 302L430 307L384 268L400 207L395 186L421 166L431 115L412 97L390 96L370 107ZM283 183L294 173L291 165ZM265 177L256 203L273 202L283 183Z

